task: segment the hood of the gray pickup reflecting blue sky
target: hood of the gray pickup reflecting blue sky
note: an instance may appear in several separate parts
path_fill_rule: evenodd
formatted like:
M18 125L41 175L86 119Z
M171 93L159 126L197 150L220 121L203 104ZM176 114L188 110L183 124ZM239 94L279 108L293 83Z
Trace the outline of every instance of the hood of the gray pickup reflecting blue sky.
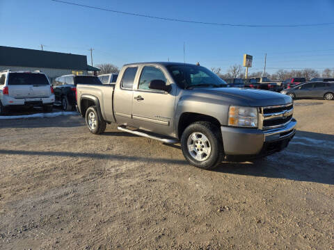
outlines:
M291 97L268 90L252 90L248 88L195 88L193 91L227 97L229 99L238 99L238 101L242 101L245 106L251 107L276 106L292 103Z

